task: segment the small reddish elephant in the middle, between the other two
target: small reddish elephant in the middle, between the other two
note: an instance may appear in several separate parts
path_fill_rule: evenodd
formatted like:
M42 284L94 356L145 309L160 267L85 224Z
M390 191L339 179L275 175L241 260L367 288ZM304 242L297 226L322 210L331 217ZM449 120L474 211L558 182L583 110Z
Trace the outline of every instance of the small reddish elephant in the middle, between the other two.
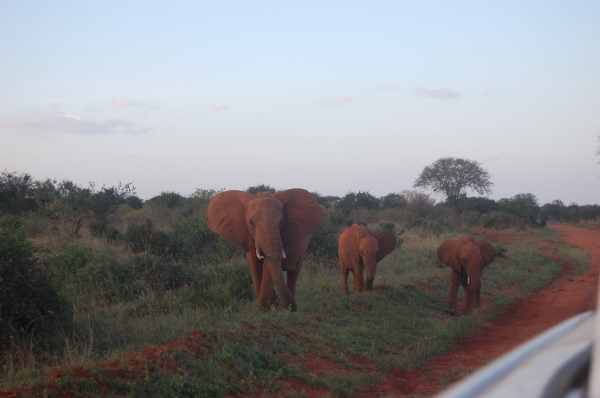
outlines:
M340 235L338 254L342 272L342 292L348 294L348 274L354 274L354 293L373 288L377 263L396 248L396 237L387 231L371 232L354 224ZM367 269L366 283L363 270Z

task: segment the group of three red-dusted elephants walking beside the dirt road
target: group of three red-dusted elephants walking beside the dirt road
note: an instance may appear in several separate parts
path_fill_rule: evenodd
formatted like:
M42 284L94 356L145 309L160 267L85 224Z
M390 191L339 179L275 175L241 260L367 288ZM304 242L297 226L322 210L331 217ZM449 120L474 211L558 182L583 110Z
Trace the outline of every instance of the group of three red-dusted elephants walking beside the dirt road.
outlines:
M256 195L244 191L217 194L206 209L211 231L239 244L246 251L252 281L261 309L276 303L297 310L296 281L308 248L327 209L304 189L288 189ZM371 232L354 224L342 232L338 254L342 291L348 294L348 275L354 274L354 292L371 290L379 261L396 247L396 237L386 231ZM448 239L437 250L440 261L452 269L448 307L456 313L458 285L465 291L465 310L480 307L483 268L496 258L496 250L483 240L465 235ZM367 269L366 281L363 271ZM287 272L287 281L283 273Z

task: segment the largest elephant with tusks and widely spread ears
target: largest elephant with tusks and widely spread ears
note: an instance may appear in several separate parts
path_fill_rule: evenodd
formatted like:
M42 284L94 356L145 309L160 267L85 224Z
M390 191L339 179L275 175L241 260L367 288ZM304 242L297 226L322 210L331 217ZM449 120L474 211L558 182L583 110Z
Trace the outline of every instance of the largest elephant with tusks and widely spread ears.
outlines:
M296 311L296 281L310 234L323 217L323 208L304 189L259 192L225 191L206 209L211 231L239 244L246 251L260 308L276 297ZM283 276L287 272L287 283Z

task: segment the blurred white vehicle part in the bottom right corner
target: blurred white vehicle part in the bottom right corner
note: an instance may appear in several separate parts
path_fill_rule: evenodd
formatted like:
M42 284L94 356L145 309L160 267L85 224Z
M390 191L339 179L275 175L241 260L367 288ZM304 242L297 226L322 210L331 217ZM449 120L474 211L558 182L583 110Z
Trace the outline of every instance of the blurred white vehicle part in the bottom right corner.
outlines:
M600 398L600 344L594 345L600 338L595 337L600 337L596 312L574 316L437 397Z

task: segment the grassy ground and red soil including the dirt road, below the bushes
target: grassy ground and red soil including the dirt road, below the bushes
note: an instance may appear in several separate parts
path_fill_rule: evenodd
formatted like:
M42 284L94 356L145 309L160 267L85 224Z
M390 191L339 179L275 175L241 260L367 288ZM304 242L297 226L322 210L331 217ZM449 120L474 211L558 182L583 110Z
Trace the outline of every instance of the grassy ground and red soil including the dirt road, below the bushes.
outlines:
M236 288L238 279L249 282L241 257L217 268L202 294L184 286L92 305L89 292L79 292L74 334L61 355L41 363L26 341L15 344L0 396L431 395L593 307L598 253L590 268L590 254L575 246L587 250L587 243L569 240L580 229L549 226L472 228L499 256L484 274L483 308L458 317L446 311L448 269L435 254L458 231L407 231L402 246L378 265L375 290L360 295L343 296L339 269L309 257L296 313L261 313L251 290L217 305L215 297ZM217 304L189 305L203 297Z

